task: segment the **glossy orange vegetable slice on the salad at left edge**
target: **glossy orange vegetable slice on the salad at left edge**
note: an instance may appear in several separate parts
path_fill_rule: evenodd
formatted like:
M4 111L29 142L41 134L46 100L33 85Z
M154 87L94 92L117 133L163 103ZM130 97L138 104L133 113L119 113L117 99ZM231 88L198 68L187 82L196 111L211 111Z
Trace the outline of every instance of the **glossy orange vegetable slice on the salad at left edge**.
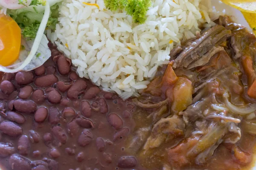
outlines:
M20 53L21 31L12 17L0 14L0 65L8 66Z

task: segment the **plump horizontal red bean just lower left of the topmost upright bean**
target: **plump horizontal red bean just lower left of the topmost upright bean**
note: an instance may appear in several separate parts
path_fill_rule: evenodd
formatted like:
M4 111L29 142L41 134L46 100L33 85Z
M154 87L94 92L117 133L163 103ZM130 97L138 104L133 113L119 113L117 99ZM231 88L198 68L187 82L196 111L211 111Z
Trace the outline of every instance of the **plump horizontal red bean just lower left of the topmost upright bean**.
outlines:
M58 78L52 74L47 74L35 79L35 85L38 87L51 86L55 82L58 82Z

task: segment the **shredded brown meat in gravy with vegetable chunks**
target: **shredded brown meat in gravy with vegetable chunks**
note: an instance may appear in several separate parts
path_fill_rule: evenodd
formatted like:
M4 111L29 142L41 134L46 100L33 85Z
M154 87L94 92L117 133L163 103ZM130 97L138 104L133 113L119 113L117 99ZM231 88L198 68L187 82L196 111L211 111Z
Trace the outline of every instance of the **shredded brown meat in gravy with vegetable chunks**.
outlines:
M127 150L152 170L238 170L253 159L256 38L220 17L171 51L169 65L133 99Z

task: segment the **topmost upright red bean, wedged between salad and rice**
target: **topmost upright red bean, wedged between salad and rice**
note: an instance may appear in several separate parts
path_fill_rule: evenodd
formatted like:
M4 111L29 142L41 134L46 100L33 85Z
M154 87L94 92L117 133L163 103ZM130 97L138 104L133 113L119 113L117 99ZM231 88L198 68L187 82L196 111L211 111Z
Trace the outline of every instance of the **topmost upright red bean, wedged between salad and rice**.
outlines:
M58 71L62 75L67 75L70 72L71 60L64 55L55 56L53 60L57 60Z

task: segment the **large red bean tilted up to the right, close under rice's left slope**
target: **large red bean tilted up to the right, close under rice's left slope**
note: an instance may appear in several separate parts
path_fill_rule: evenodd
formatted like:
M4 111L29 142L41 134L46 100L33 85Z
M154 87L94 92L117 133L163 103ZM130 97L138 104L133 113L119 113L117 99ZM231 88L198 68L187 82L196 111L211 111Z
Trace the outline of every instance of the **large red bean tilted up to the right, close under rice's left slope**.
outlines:
M87 87L87 83L84 80L77 80L67 91L67 96L71 99L76 99Z

